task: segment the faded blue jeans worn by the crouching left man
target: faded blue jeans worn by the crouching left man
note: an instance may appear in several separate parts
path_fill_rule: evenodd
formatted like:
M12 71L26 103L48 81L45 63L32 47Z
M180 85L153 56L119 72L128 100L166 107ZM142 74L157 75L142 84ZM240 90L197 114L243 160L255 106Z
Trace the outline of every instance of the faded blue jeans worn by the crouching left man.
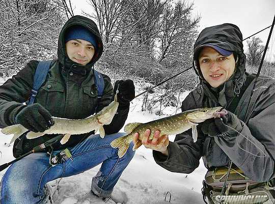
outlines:
M44 152L31 154L13 163L2 179L0 203L44 203L44 186L47 182L82 173L100 163L101 168L92 179L92 191L98 196L111 196L123 170L134 156L132 143L120 159L117 149L110 146L114 139L124 135L125 133L116 133L106 135L104 139L99 135L91 135L70 148L73 161L68 159L53 167L49 165L49 156ZM57 152L59 151L54 151Z

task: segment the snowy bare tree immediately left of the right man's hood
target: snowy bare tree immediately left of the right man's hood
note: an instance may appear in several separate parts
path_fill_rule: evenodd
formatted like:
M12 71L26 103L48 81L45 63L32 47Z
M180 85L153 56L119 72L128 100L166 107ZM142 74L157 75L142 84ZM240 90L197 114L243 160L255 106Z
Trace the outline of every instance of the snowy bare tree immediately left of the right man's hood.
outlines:
M194 4L178 1L167 4L161 18L161 32L158 34L157 59L163 66L163 77L174 75L190 67L193 44L198 34L200 16L193 17ZM191 89L196 87L196 74L188 71L184 77L177 77L167 84L167 88Z

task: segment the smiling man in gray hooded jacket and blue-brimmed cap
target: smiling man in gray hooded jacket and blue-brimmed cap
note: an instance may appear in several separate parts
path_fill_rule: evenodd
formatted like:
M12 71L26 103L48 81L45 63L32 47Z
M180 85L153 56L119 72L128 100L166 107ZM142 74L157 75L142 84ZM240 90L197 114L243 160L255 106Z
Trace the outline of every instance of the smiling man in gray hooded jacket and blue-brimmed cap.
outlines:
M232 161L253 181L273 179L275 81L245 72L239 28L225 23L204 29L194 45L194 69L200 85L182 102L182 111L223 106L228 114L223 120L199 124L196 143L191 131L171 142L159 131L148 140L148 130L142 142L153 149L156 163L173 172L191 173L201 157L207 169L228 166Z

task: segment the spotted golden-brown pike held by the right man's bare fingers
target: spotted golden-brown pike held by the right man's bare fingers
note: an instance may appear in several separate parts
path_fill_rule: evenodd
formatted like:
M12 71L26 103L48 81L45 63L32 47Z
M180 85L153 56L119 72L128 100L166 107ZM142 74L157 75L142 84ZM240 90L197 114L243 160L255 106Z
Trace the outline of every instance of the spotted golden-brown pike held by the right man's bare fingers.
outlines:
M118 156L119 158L122 158L129 148L134 133L139 133L139 141L134 144L133 151L142 145L141 141L146 129L151 130L151 134L149 136L149 139L151 140L153 139L154 132L156 130L160 131L161 135L175 135L192 128L193 140L196 142L198 138L196 126L198 123L203 122L206 119L226 115L227 111L221 111L221 109L222 107L200 108L184 111L173 116L153 120L147 123L128 123L124 127L124 131L128 133L128 135L115 139L111 142L111 146L113 148L118 148Z

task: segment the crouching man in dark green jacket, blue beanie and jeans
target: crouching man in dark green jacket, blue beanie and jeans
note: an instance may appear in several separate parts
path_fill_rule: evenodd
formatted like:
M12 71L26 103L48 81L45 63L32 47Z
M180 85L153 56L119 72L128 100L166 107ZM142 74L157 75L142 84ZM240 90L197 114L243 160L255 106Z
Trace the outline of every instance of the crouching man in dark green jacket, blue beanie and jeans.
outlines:
M12 164L1 183L2 204L6 203L45 203L47 193L44 186L55 179L84 172L102 163L93 177L93 194L108 198L119 180L123 170L133 158L129 148L127 155L119 159L117 150L110 143L123 136L118 133L129 112L129 101L134 98L134 85L131 80L119 80L115 90L107 75L101 74L104 90L101 98L97 97L94 79L94 63L103 52L103 43L94 21L83 16L74 16L64 25L58 44L58 59L53 60L33 105L22 103L30 97L33 78L38 61L30 61L12 79L0 87L0 127L21 124L33 132L44 132L53 125L52 116L83 119L102 110L114 98L119 89L119 107L111 124L104 125L105 138L94 132L71 136L63 145L53 145L54 155L69 149L73 161L66 160L58 165L49 164L46 152L31 154ZM18 157L33 147L55 135L44 135L28 140L24 136L14 143L14 156Z

